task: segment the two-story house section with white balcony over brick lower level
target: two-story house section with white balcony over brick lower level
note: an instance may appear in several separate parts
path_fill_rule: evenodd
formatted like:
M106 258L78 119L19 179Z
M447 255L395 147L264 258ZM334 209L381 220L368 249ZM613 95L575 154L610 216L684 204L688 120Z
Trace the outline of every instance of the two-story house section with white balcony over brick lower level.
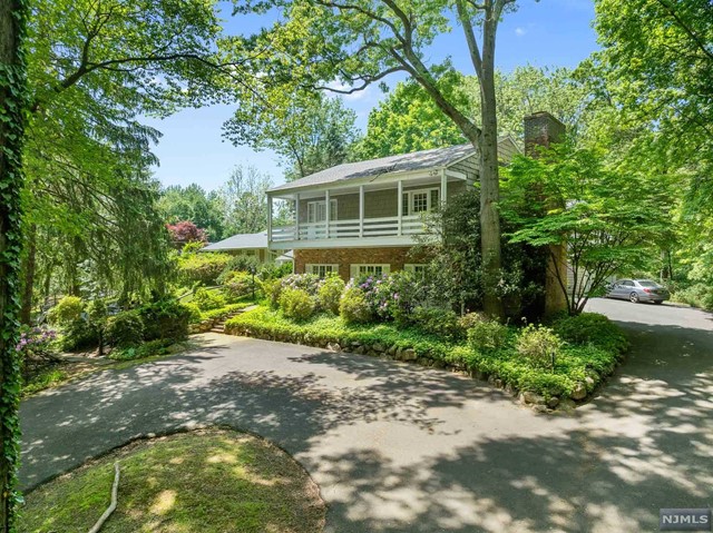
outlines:
M499 139L502 159L519 151ZM418 270L410 263L423 216L478 180L471 145L350 162L281 185L267 193L268 247L294 250L295 273L349 279L362 274ZM282 206L282 209L279 209ZM287 213L290 220L275 214Z

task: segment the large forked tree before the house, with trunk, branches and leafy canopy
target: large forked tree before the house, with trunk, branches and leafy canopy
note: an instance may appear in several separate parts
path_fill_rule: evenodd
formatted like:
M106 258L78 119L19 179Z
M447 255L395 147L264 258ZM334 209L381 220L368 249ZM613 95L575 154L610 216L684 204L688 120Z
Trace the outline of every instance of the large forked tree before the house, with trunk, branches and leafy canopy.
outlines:
M498 24L515 0L245 0L237 12L279 8L281 21L242 42L265 80L295 80L310 88L355 92L394 72L417 81L480 155L480 221L485 310L502 316L495 287L500 272L500 219L497 211L498 125L495 42ZM285 20L284 22L282 20ZM480 126L439 85L452 75L449 62L428 65L428 47L456 21L463 32L479 80ZM478 30L481 40L478 42ZM261 50L268 50L261 56ZM334 81L345 86L335 87Z

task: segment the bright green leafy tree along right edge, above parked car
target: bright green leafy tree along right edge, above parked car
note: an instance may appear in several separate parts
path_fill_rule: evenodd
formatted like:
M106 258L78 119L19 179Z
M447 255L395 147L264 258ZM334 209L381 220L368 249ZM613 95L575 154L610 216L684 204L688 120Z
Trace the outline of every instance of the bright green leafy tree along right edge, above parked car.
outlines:
M595 7L602 50L579 75L598 80L600 136L626 165L677 180L675 238L664 254L670 282L707 286L713 302L713 7L707 0Z

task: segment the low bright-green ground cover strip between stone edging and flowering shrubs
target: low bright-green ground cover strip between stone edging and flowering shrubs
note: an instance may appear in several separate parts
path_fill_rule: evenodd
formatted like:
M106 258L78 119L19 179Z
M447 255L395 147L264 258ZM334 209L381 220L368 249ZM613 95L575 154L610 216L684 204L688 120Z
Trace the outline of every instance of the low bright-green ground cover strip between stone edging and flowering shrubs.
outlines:
M614 326L616 327L616 326ZM518 354L519 329L508 327L507 342L497 349L478 351L463 342L449 342L417 327L394 324L346 324L342 318L318 315L295 323L280 312L258 307L226 323L226 333L270 340L326 347L369 355L388 355L423 366L447 367L488 379L512 392L530 391L544 398L572 397L590 393L614 372L619 349L603 349L592 343L566 343L554 371L536 367Z

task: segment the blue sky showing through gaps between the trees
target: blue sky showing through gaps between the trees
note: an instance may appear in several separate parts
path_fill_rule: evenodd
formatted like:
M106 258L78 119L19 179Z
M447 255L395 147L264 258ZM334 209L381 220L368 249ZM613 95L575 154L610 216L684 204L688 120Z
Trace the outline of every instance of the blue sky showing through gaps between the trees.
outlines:
M502 71L518 66L575 67L597 49L592 28L592 0L521 0L515 13L507 14L498 29L496 63ZM260 23L254 17L225 14L225 29L229 33L251 31ZM457 68L472 73L462 34L456 29L438 38L431 48L431 58L438 61L450 56ZM393 78L391 83L398 78ZM369 88L344 97L354 109L358 126L365 128L369 111L383 93ZM236 165L253 165L281 182L282 168L271 151L256 152L247 147L235 147L221 136L221 126L231 117L231 106L186 109L163 120L147 119L164 136L155 148L160 166L155 169L163 185L199 184L206 190L221 187Z

